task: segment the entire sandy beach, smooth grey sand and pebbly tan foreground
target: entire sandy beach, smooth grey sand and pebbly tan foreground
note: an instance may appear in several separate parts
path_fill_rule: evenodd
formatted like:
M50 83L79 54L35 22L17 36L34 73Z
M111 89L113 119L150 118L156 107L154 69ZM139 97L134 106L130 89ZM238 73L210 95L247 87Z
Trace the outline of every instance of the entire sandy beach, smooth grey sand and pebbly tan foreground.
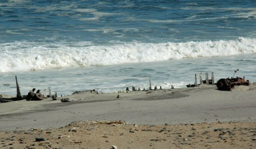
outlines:
M3 148L255 148L256 85L0 103ZM119 95L119 98L117 96ZM69 99L62 103L61 99Z

